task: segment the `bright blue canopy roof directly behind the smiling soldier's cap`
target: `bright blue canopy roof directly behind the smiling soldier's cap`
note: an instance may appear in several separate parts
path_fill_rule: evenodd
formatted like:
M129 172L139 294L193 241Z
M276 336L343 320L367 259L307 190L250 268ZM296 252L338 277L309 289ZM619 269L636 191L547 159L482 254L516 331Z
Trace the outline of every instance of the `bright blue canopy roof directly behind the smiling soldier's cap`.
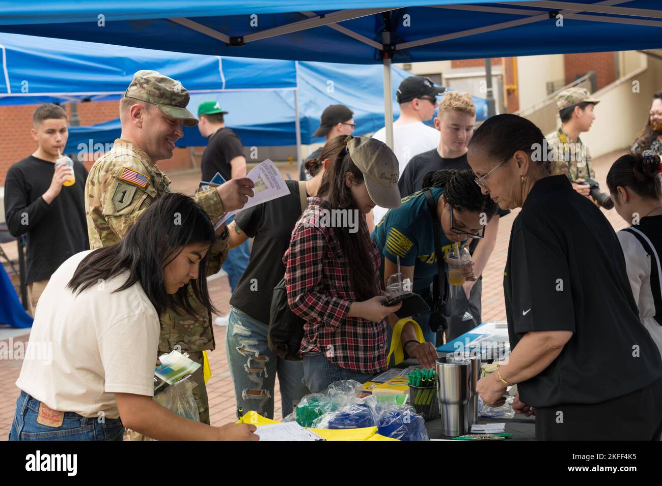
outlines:
M0 49L0 106L119 99L133 74L146 67L181 81L191 93L297 87L293 61L176 54L17 34L0 34Z

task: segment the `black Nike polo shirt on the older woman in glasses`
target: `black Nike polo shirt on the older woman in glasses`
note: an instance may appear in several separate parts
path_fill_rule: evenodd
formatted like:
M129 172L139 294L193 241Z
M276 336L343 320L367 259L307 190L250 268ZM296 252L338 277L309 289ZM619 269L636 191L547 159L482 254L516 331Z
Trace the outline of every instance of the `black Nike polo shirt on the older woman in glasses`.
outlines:
M528 194L512 225L503 286L511 349L530 331L574 333L545 370L518 385L523 403L601 403L662 376L618 237L564 175Z

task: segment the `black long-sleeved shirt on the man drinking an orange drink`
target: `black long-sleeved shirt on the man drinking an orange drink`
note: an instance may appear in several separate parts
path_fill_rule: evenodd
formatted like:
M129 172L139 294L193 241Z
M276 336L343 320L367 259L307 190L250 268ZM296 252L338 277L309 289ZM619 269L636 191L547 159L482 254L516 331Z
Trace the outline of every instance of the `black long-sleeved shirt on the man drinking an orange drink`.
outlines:
M62 186L50 204L55 164L30 155L9 167L5 181L5 220L14 236L27 233L26 283L46 280L66 259L89 250L85 220L87 171L74 161L75 184Z

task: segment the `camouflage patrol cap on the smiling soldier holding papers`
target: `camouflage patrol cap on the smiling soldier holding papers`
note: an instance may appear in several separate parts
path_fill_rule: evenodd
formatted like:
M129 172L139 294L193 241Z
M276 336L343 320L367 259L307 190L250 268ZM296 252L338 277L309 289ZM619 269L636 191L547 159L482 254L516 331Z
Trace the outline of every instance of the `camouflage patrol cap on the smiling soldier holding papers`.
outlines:
M195 115L186 109L189 104L189 92L179 81L157 71L149 69L136 71L124 97L156 104L167 116L182 120L185 126L198 124Z

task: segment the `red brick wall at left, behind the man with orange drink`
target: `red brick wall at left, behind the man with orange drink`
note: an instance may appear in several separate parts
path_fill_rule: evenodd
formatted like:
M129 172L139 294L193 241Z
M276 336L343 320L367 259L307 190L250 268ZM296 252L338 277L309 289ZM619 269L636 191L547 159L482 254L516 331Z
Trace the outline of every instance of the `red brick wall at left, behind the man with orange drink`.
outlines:
M119 116L118 101L95 101L78 103L78 118L81 125L94 125L107 122ZM66 103L68 116L71 106ZM0 107L0 186L5 185L5 177L11 165L24 159L37 149L37 143L30 136L32 112L36 105ZM93 161L85 163L87 169ZM159 167L164 171L190 169L189 149L175 149L173 157L161 161Z

